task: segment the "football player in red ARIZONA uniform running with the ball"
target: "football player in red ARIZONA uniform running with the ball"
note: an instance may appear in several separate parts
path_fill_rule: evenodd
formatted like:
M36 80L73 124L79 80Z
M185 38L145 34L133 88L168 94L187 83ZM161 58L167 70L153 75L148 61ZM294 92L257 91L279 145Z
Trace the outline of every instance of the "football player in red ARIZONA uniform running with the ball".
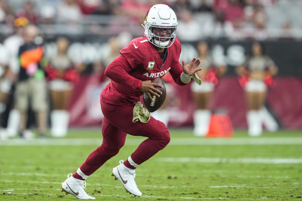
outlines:
M150 99L152 95L159 97L161 92L155 87L161 85L151 80L163 77L168 71L177 84L185 85L195 72L201 70L197 68L200 60L195 57L188 64L184 60L182 65L179 63L181 46L176 38L177 25L176 15L170 7L154 5L145 16L145 36L133 39L106 68L105 75L111 82L100 95L104 115L103 143L74 174L68 174L62 183L62 192L79 199L95 199L85 192L84 180L119 152L128 133L148 139L125 162L120 160L120 165L113 168L111 176L122 183L126 192L142 196L135 182L135 169L165 148L170 142L170 133L163 122L150 117L139 98L144 92Z

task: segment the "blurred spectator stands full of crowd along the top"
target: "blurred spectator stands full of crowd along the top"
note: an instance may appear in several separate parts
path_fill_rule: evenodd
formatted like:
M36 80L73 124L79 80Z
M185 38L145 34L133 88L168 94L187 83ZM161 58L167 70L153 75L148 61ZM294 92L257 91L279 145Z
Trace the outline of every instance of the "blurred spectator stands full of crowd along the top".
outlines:
M159 3L154 0L0 2L2 40L13 34L13 19L16 17L27 17L38 24L47 40L57 35L69 35L76 40L106 39L121 31L128 31L136 37L143 34L141 23L145 8ZM205 38L302 38L302 2L299 0L166 0L160 3L166 3L176 11L180 21L179 32L182 32L183 23L198 31L193 37L180 34L180 39L186 41ZM138 14L142 16L138 17ZM192 18L192 23L188 23L188 18ZM95 37L91 39L91 36Z

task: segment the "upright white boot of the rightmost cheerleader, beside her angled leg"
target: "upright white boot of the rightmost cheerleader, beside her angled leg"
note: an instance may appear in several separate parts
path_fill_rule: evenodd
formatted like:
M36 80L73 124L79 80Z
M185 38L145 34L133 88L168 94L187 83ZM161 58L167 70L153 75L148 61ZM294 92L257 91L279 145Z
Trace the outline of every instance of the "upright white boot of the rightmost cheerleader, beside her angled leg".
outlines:
M259 136L262 133L262 121L259 110L250 110L247 113L248 133L250 136Z

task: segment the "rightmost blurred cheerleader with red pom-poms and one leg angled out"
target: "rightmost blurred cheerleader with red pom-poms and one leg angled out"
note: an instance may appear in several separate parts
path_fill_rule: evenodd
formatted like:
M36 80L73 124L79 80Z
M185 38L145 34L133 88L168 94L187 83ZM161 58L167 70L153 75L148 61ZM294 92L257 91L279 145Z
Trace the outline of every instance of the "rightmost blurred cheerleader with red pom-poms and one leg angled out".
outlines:
M261 135L262 123L265 123L269 131L278 129L277 122L264 106L267 89L273 85L272 76L276 75L277 71L277 66L265 54L259 42L252 43L251 55L237 67L237 73L241 76L239 82L244 87L247 100L246 118L250 136Z

